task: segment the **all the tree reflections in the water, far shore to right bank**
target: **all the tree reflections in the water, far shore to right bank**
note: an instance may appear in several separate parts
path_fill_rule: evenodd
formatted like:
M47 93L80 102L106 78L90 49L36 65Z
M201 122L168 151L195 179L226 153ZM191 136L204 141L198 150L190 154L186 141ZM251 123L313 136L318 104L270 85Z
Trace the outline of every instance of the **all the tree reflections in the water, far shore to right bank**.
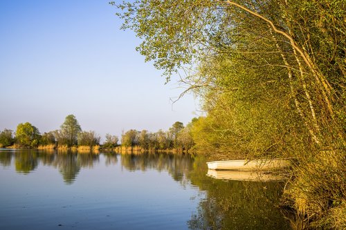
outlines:
M73 184L82 168L92 168L95 162L100 162L100 155L92 153L15 151L14 154L2 152L1 164L10 164L11 155L15 156L18 173L30 173L39 163L54 166L66 184ZM289 229L277 208L282 182L215 180L206 175L208 169L203 156L170 153L102 155L106 166L120 162L127 171L165 171L184 188L199 189L203 198L187 222L190 229Z

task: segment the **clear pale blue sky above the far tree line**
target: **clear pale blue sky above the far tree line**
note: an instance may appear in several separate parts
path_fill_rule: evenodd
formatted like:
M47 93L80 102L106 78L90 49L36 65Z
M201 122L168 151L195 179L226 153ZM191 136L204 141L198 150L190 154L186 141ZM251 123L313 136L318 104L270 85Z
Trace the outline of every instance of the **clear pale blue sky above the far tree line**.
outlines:
M109 0L0 1L0 131L41 133L73 114L84 131L167 130L196 117L192 95L136 52L140 43Z

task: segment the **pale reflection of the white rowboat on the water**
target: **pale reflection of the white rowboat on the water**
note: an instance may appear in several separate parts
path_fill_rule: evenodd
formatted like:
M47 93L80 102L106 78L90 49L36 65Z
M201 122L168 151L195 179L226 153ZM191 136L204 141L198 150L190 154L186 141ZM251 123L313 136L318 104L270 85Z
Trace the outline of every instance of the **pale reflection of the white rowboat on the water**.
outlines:
M251 182L278 182L285 180L282 175L266 173L264 171L216 171L214 169L209 169L207 175L218 180L240 180Z

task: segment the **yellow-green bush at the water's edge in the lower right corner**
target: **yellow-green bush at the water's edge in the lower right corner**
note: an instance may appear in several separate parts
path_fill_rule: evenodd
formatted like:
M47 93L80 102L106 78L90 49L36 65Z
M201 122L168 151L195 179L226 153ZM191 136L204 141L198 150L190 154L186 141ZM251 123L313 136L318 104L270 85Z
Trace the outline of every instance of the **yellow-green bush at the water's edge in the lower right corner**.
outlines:
M300 159L295 180L285 191L298 214L313 227L346 227L346 156L320 151Z

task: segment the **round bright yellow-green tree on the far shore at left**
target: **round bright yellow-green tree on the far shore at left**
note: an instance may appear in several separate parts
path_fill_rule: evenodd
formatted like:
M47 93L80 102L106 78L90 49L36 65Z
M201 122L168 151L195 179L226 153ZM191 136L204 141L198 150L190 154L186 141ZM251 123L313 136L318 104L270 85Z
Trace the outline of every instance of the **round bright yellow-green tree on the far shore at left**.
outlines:
M18 124L16 131L17 142L24 148L35 148L39 144L39 130L29 122Z

